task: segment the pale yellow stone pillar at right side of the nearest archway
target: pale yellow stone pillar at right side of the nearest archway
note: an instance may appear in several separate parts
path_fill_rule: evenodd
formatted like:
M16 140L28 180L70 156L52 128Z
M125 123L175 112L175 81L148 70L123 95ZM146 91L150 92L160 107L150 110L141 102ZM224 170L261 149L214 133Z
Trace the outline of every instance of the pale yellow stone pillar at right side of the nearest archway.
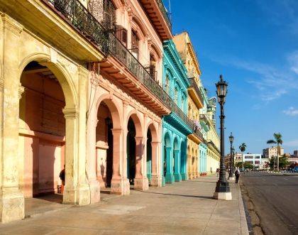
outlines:
M63 203L89 204L90 192L86 181L86 152L80 154L79 145L86 145L86 139L79 138L79 118L82 116L77 109L63 109L65 114L65 190ZM86 116L84 116L85 121ZM82 130L82 135L86 131ZM80 136L82 137L82 136Z

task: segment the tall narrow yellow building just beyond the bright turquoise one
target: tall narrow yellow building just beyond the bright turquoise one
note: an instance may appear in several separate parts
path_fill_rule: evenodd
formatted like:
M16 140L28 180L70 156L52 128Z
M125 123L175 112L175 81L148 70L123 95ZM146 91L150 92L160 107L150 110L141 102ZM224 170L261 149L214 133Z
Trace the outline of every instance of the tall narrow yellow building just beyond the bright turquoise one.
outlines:
M202 87L200 79L201 70L189 34L183 32L179 35L175 35L173 41L187 68L189 81L191 82L191 86L187 89L187 116L194 121L195 126L194 132L187 137L187 172L188 179L192 179L199 177L199 144L204 141L204 137L199 130L199 109L202 109L204 106L204 100L199 89L199 87Z

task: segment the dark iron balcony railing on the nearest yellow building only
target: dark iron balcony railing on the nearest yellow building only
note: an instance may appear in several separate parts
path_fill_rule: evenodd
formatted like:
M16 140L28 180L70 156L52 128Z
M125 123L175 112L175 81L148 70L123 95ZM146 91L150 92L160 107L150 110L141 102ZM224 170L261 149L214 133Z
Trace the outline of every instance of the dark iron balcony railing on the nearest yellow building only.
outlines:
M99 21L77 0L48 0L60 11L72 26L96 44L103 53L107 52L108 35Z

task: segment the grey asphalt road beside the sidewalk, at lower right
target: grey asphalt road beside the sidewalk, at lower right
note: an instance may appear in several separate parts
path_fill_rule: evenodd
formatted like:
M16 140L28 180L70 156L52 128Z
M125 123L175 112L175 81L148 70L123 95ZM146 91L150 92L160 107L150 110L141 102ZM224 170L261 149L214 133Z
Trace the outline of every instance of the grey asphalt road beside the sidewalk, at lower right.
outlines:
M265 234L298 234L298 174L250 172L241 183Z

